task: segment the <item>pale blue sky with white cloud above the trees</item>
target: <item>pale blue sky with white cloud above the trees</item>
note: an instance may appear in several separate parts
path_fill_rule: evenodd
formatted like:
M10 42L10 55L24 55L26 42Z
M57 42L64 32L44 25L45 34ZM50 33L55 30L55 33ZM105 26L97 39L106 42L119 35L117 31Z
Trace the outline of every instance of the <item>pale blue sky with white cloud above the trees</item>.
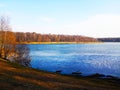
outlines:
M13 31L120 37L120 0L0 0Z

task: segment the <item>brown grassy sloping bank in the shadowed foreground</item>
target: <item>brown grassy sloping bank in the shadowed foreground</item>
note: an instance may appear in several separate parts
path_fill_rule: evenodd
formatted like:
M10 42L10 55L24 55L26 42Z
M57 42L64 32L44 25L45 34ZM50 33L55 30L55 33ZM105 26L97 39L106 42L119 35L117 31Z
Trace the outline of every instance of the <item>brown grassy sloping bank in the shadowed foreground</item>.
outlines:
M0 90L120 90L119 83L48 73L0 59Z

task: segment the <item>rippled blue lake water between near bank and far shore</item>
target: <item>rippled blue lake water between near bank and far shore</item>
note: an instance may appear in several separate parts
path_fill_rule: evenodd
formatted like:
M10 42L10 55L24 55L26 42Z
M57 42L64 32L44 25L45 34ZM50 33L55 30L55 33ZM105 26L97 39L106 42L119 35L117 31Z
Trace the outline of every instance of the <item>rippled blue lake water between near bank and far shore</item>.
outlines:
M120 43L30 45L32 67L64 74L101 73L120 77Z

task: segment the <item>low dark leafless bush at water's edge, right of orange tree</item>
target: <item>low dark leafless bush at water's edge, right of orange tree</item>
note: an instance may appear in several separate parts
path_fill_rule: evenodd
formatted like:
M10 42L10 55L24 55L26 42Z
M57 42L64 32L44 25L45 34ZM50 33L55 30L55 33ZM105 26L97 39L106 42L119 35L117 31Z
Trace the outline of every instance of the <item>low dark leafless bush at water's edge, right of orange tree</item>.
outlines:
M26 44L24 45L17 45L16 46L16 56L15 56L15 62L22 64L24 66L30 67L30 49Z

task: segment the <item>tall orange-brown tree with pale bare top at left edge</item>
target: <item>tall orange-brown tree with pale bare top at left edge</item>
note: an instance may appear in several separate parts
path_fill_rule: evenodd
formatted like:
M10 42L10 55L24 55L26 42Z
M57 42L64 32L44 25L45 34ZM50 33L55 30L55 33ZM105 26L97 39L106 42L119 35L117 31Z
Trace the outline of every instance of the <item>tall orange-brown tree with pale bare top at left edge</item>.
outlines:
M9 18L0 17L0 57L8 59L8 57L14 53L16 45L16 37L11 31L9 25Z

